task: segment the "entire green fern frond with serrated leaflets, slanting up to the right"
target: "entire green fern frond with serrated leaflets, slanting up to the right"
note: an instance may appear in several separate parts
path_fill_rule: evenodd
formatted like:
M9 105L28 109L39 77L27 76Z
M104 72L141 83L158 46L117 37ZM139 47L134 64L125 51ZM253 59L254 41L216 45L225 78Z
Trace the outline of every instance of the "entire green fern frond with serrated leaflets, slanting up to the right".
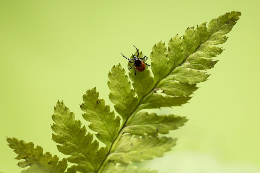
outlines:
M52 116L54 123L51 128L55 132L52 139L58 143L58 150L69 157L58 161L57 155L52 156L49 152L43 154L40 146L34 148L31 142L7 138L10 148L18 154L16 159L25 159L18 166L30 166L22 172L62 173L67 168L67 161L75 165L68 168L66 173L158 172L128 165L161 157L171 150L176 139L159 134L178 129L187 119L172 114L157 115L140 111L187 103L192 98L190 95L198 89L196 84L209 77L205 70L217 63L212 58L223 51L215 45L226 42L225 34L231 31L240 15L240 12L226 13L212 19L208 27L206 23L198 25L196 29L188 27L182 39L178 35L170 39L168 49L165 42L155 44L150 55L154 77L147 66L137 76L132 68L129 70L131 83L125 69L120 64L114 65L108 74L109 99L119 116L115 116L105 101L99 99L96 88L88 90L83 95L84 103L80 105L85 112L82 116L90 122L88 127L96 132L97 139L105 147L99 147L98 140L93 140L93 134L87 133L87 128L81 127L81 121L75 120L74 113L58 101ZM139 54L141 57L142 52Z

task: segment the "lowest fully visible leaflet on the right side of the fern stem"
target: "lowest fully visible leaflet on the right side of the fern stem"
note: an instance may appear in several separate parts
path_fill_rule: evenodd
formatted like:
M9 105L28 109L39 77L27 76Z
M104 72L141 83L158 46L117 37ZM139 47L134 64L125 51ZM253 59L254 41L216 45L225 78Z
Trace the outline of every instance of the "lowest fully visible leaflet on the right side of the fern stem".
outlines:
M138 136L132 137L127 134L121 137L114 150L108 156L110 161L117 163L130 164L139 163L143 160L161 157L164 152L176 145L176 139L166 137Z

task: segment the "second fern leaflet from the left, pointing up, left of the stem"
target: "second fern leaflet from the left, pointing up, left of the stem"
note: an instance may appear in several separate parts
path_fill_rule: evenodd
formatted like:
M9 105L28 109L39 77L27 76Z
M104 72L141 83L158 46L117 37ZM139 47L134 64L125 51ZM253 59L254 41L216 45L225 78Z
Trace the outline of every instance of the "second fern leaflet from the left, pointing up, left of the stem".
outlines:
M93 141L92 134L86 134L86 127L81 127L81 121L75 121L74 113L63 102L57 102L54 113L52 119L55 123L51 128L57 134L53 134L52 139L61 144L57 145L58 150L70 155L67 160L78 164L77 171L96 172L107 155L107 147L99 148L98 141Z

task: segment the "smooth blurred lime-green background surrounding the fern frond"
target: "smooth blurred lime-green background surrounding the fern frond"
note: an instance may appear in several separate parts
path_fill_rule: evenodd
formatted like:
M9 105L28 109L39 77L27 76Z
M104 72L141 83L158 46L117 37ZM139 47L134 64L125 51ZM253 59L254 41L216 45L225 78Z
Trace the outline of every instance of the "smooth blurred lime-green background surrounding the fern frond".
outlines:
M97 86L107 104L107 74L127 66L133 45L149 55L160 40L226 12L242 12L207 82L183 107L159 112L190 119L173 131L178 144L146 161L164 172L259 172L258 0L230 1L0 1L0 170L20 172L6 136L64 155L51 140L51 115L63 100L81 117L82 95ZM151 62L150 59L147 62ZM157 110L152 110L157 111Z

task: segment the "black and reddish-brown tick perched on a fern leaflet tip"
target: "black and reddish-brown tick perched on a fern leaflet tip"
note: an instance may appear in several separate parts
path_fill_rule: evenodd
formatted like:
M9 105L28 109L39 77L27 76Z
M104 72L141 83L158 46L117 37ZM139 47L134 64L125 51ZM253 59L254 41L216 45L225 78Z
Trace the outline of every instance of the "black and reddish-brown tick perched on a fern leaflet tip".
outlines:
M135 47L135 46L134 46L134 47ZM123 55L123 57L125 57L126 59L128 59L130 63L133 63L132 67L130 67L130 68L127 67L129 70L130 70L131 68L133 68L133 66L135 66L135 69L136 69L138 72L143 72L144 69L145 69L145 65L144 65L144 64L148 65L149 67L150 67L151 65L147 64L146 62L143 62L143 61L145 61L145 60L147 59L146 56L144 56L144 57L142 57L142 58L138 58L138 56L139 56L139 51L138 51L138 49L137 49L136 47L135 47L135 49L137 50L137 57L136 57L135 54L134 54L134 55L133 55L133 59L129 59L129 58L125 57L125 55L123 55L122 53L121 53L121 54ZM136 76L136 72L135 72L135 76Z

